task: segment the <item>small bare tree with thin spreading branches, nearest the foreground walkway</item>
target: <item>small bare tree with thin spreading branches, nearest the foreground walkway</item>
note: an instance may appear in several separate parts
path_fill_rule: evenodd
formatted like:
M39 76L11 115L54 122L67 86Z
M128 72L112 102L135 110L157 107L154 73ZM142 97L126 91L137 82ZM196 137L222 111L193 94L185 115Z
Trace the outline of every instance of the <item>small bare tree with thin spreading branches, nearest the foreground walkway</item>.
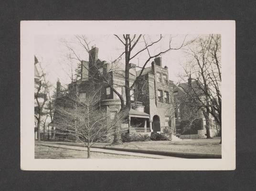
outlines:
M55 124L67 135L83 142L90 158L90 148L97 142L107 141L115 133L117 120L111 120L106 111L99 108L100 89L86 94L86 98L73 95L66 97L66 104L56 107ZM68 103L68 104L67 104Z

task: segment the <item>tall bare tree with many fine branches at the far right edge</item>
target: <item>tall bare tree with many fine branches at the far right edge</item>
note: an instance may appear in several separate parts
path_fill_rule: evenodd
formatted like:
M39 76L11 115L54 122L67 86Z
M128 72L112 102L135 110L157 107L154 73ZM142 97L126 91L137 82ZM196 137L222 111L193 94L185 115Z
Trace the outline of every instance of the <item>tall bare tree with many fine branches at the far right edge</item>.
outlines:
M186 53L190 56L191 62L184 67L185 75L192 76L197 84L195 88L192 87L190 95L202 107L207 138L210 138L211 116L221 127L221 36L202 36L189 46Z

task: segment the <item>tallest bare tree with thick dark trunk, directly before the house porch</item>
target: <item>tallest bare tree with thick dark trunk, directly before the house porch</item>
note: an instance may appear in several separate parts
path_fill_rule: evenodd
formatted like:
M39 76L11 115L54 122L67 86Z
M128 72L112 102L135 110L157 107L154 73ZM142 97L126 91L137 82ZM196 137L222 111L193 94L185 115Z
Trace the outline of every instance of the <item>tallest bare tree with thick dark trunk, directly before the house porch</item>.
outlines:
M131 90L136 86L138 80L140 79L140 76L143 73L143 70L146 68L147 64L150 62L150 60L164 54L167 53L170 50L178 50L181 49L181 47L187 45L188 43L191 42L185 42L185 38L183 40L183 42L180 44L179 47L171 47L171 41L172 41L172 37L170 37L169 39L169 47L166 48L166 50L164 51L159 51L158 53L150 53L152 52L152 50L154 50L154 46L157 45L158 43L161 42L163 36L160 35L159 38L155 41L150 41L149 39L146 39L146 35L144 34L134 34L134 35L130 35L130 34L123 34L123 35L116 35L115 37L122 43L123 47L124 47L124 51L123 53L121 53L116 60L113 61L112 63L112 68L111 68L111 72L107 73L107 74L103 74L101 73L98 68L97 68L97 64L93 63L93 68L88 68L88 70L93 70L94 71L94 75L90 75L91 79L93 79L94 83L101 83L103 82L105 85L107 85L108 87L110 87L110 89L117 94L117 96L120 99L121 102L121 109L117 115L117 117L122 117L121 121L126 121L127 117L128 117L128 113L131 107ZM89 53L89 57L92 57L92 55L90 55L90 51L89 51L89 43L86 40L86 37L84 35L75 35L76 40L78 41L78 43L85 49L85 51L87 53ZM144 45L142 46L142 48L139 48L140 46L138 46L138 44L143 43ZM68 48L68 50L72 53L71 58L79 61L80 63L82 63L82 59L80 58L80 55L75 51L74 48L72 48L68 43L65 43L66 47ZM138 47L137 47L138 46ZM137 48L137 49L136 49ZM139 50L138 50L139 49ZM155 51L155 50L154 50ZM147 60L142 64L142 67L138 67L141 69L140 74L138 76L136 76L136 78L133 80L133 82L130 82L130 64L132 62L133 59L136 59L141 53L147 53L148 54L148 58ZM125 70L124 70L124 74L120 73L120 70L118 68L118 66L116 67L116 62L118 60L120 60L122 58L122 56L125 56ZM93 59L91 59L93 60ZM82 64L82 66L84 66ZM84 66L85 67L85 66ZM95 75L96 74L96 75ZM115 84L115 82L112 81L112 77L113 74L118 74L120 76L122 76L125 79L125 84L122 85L125 87L125 98L123 97L123 95L121 95L120 93L118 93L116 86L117 84ZM126 100L126 102L125 102ZM117 127L120 128L120 127ZM120 134L120 129L117 129L117 134L115 134L114 136L114 140L113 140L113 144L122 144L121 141L121 134Z

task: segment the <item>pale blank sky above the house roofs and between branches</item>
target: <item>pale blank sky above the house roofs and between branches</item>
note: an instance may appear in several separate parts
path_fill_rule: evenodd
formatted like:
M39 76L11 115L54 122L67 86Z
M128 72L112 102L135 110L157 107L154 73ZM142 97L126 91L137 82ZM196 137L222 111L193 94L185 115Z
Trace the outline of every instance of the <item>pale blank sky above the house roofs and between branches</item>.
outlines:
M150 55L168 49L170 38L171 48L177 48L181 46L184 39L185 42L188 42L195 37L197 37L197 35L163 34L161 41L154 44L149 49ZM99 48L98 58L101 60L107 62L114 61L124 51L124 45L114 35L86 34L85 38L86 42L89 43L89 47L96 46ZM145 35L146 42L154 42L159 38L160 35ZM70 52L65 47L65 42L75 50L81 60L88 61L89 55L86 53L85 49L79 45L75 35L36 35L34 40L35 55L41 63L48 81L52 85L56 84L57 79L60 80L62 85L70 83L71 67L73 70L77 67L78 61L73 59L70 62L70 60L67 59L67 55ZM141 50L144 46L145 42L143 41L143 38L141 38L133 50L134 53ZM182 73L182 64L187 62L187 56L184 53L184 50L186 49L186 47L183 47L180 50L171 50L161 55L162 67L168 66L169 79L174 82L180 81L178 75ZM148 56L147 51L145 51L140 53L130 62L142 66L148 59ZM147 64L147 67L151 66L152 61L153 59ZM121 62L124 63L124 56L122 57Z

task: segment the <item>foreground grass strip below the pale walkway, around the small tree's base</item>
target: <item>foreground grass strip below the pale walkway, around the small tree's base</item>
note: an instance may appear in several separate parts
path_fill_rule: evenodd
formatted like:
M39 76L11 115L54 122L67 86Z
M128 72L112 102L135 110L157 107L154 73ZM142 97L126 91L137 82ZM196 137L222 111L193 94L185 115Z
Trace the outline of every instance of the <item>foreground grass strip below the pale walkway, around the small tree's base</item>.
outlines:
M53 148L35 144L35 159L85 159L87 151ZM91 152L92 159L145 159L144 157Z

